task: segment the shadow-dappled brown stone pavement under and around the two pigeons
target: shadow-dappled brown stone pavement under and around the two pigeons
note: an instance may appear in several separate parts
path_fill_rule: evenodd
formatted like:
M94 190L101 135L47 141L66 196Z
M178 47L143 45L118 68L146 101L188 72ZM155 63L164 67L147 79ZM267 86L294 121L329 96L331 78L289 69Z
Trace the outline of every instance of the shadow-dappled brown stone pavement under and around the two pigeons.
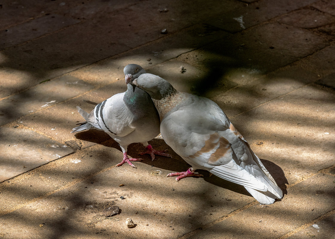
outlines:
M0 238L334 238L334 1L17 0L0 19ZM107 134L71 134L129 63L215 101L283 199L166 178L188 165L159 137L173 158L135 169Z

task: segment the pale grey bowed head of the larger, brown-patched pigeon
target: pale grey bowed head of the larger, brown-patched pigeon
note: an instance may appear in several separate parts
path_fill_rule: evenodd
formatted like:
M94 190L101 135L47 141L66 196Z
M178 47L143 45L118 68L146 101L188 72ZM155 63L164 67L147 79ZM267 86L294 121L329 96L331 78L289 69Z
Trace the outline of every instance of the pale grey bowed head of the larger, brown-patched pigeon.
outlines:
M160 78L152 74L142 74L133 81L133 84L138 88L146 91L152 99L160 100L176 92L173 86Z

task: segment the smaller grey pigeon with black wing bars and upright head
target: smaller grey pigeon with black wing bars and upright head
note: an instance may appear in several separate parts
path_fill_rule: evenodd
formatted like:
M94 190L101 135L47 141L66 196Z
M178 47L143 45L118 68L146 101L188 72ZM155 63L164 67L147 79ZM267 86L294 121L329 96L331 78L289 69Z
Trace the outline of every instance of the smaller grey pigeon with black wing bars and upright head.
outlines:
M136 168L131 161L141 161L141 158L129 158L127 146L141 142L147 151L141 155L150 154L152 161L156 155L172 157L165 153L167 150L157 151L147 141L159 134L159 115L150 98L143 90L132 84L133 80L145 73L145 70L136 64L129 64L124 69L127 91L116 94L111 98L96 104L91 113L87 113L77 106L79 114L86 120L73 128L74 132L95 128L105 131L120 144L123 160L116 167L127 162ZM95 105L94 102L86 101Z

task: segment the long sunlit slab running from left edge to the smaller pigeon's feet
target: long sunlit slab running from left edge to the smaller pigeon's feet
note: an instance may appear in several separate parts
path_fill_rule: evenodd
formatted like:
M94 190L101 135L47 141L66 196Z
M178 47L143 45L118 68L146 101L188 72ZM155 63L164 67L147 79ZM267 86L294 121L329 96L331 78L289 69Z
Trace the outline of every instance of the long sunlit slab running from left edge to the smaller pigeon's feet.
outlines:
M5 181L1 185L1 215L45 198L115 165L111 164L111 150L114 150L116 155L122 155L120 150L106 150L106 147L94 145Z

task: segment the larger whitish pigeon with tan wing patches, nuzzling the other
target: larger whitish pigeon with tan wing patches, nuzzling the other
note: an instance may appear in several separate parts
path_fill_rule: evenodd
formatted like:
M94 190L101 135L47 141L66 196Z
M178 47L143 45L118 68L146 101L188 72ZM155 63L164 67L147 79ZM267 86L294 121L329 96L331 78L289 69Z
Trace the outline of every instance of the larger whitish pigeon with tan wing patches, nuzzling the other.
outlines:
M222 109L210 99L177 91L166 80L142 74L133 84L152 98L159 116L164 141L191 167L169 173L177 181L204 169L237 183L261 204L272 204L283 193L269 171L232 125Z

